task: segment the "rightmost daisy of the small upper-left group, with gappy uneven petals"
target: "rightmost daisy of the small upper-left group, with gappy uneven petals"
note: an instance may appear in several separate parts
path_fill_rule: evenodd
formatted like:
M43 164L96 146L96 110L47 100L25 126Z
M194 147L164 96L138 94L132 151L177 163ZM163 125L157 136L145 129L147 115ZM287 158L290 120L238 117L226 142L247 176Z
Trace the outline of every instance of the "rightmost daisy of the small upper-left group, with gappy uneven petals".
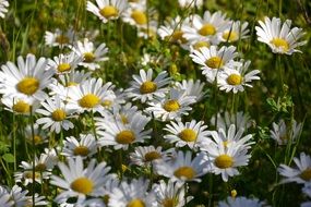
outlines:
M74 47L71 47L71 49L83 57L83 62L80 62L79 65L87 68L91 71L95 71L100 68L98 62L108 60L108 57L106 57L108 48L105 42L95 48L92 41L84 38L83 42L77 41Z

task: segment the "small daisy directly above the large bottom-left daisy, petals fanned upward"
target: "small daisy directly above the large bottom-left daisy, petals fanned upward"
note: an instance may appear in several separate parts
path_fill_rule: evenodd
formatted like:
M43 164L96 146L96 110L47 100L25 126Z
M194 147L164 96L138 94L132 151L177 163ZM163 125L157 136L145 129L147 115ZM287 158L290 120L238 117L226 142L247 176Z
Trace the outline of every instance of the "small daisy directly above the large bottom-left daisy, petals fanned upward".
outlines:
M80 139L70 136L63 141L61 155L65 157L81 156L82 158L92 157L97 153L97 143L92 134L80 134Z

